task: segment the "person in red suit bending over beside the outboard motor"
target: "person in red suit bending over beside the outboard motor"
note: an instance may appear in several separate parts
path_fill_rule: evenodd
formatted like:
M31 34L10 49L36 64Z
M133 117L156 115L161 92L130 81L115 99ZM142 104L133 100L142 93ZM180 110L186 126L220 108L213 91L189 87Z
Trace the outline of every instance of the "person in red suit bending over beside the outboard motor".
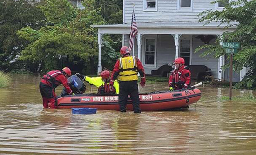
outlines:
M55 88L62 84L68 94L72 94L72 90L68 84L67 78L71 76L71 70L64 67L61 71L52 70L41 78L39 89L43 98L44 108L56 108Z

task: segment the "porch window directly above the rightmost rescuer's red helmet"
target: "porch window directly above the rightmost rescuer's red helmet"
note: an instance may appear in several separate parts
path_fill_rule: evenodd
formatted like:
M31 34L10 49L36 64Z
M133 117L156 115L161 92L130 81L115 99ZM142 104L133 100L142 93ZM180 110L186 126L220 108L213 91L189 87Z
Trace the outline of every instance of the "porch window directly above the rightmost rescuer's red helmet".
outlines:
M185 66L190 65L190 40L189 39L181 39L180 41L180 57L185 60Z

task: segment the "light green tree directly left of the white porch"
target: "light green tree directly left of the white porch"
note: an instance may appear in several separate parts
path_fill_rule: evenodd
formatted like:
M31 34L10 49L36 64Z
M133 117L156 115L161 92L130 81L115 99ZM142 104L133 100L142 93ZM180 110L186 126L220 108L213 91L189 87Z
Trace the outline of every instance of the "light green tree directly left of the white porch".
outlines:
M73 7L67 0L45 0L39 6L48 25L39 30L26 27L18 31L20 38L29 41L22 51L21 60L33 60L44 65L44 71L56 69L63 55L77 64L90 64L98 54L97 29L92 24L103 24L104 20L95 9L95 0L84 0L85 9ZM78 58L78 59L77 59Z

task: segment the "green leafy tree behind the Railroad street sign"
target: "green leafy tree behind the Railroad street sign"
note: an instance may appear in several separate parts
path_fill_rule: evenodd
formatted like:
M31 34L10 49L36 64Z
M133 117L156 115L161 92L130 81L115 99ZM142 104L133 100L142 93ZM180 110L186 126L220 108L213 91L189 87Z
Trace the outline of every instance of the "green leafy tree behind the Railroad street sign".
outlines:
M221 1L223 0L212 3ZM225 50L218 42L240 42L241 49L234 54L233 70L239 71L243 67L247 67L249 71L235 87L252 88L256 80L256 0L231 1L225 5L222 11L207 10L200 13L199 16L201 16L199 21L205 22L205 24L217 21L220 24L227 24L226 28L236 26L236 30L233 32L225 31L217 39L216 45L204 45L198 47L195 52L205 48L207 50L202 53L202 56L212 55L219 58L221 55L225 55ZM227 55L227 58L229 58L229 55ZM223 69L227 67L228 64L223 66Z

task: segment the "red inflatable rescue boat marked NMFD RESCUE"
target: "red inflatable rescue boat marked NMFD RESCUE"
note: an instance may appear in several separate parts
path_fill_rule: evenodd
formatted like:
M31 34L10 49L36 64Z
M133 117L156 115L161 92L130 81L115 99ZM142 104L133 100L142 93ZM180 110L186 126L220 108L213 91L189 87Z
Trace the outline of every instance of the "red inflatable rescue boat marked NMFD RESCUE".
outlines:
M160 111L187 107L197 102L201 91L197 88L176 91L154 91L140 94L141 111ZM81 94L67 95L57 99L57 108L97 108L101 110L119 110L118 95ZM132 110L132 102L128 98L127 110Z

